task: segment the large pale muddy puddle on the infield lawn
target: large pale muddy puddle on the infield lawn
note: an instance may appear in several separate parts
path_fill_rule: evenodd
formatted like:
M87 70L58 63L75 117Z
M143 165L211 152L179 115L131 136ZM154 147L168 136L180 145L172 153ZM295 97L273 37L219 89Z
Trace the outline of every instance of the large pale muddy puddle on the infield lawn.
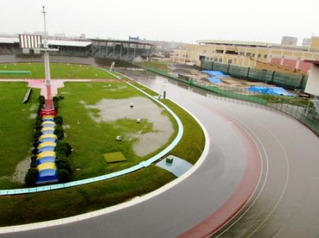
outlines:
M130 103L134 104L133 108L130 108ZM164 109L159 108L159 106L147 98L102 99L96 105L86 105L86 108L99 109L100 113L98 113L97 117L93 113L90 113L91 118L98 123L103 121L114 122L121 118L133 120L142 118L152 123L152 132L124 135L124 140L125 138L127 140L138 139L133 143L133 149L135 154L141 157L162 147L174 132L168 116L162 114Z

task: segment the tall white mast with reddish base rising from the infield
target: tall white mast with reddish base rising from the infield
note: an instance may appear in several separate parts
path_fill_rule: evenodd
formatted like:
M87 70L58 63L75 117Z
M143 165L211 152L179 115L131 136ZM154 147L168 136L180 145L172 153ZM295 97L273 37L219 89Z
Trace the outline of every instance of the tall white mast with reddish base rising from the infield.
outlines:
M46 111L52 111L54 110L52 105L52 95L51 95L51 76L50 76L50 60L49 60L49 46L47 43L47 26L45 21L45 14L47 13L45 11L45 6L42 6L43 11L43 24L44 24L44 35L43 35L43 57L44 57L44 63L45 63L45 86L47 89L47 98L45 100L45 110Z

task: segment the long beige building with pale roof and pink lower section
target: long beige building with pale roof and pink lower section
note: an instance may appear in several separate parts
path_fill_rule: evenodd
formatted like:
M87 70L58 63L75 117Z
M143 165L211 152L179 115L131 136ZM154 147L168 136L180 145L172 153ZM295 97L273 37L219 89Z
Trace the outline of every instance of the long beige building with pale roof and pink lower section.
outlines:
M174 50L171 62L192 63L200 66L201 60L206 60L264 69L277 65L305 73L311 67L311 64L305 60L319 60L319 37L311 38L308 47L235 40L198 40L197 42L197 45L184 45L184 49Z

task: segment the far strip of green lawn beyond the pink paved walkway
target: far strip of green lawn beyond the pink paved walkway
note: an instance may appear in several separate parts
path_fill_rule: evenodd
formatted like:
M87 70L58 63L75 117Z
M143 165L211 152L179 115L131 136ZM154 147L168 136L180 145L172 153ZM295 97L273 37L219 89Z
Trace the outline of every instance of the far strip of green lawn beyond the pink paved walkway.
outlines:
M44 64L40 62L0 64L0 70L28 70L30 75L0 75L0 79L44 79ZM52 79L116 79L102 69L84 64L50 64Z

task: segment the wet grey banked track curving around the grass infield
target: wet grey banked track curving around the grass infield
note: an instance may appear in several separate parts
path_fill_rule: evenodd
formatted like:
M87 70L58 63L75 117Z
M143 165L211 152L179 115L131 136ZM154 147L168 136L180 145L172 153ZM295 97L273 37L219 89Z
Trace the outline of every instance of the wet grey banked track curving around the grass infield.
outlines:
M160 91L164 79L139 81ZM214 237L318 237L319 140L313 132L283 113L206 91L189 91L174 81L169 81L167 95L191 111L208 130L208 157L194 174L159 196L123 210L0 237L203 234L208 223L202 221L232 196L247 167L245 138L234 130L234 125L240 126L257 145L262 176L245 208ZM198 226L191 229L195 225Z

